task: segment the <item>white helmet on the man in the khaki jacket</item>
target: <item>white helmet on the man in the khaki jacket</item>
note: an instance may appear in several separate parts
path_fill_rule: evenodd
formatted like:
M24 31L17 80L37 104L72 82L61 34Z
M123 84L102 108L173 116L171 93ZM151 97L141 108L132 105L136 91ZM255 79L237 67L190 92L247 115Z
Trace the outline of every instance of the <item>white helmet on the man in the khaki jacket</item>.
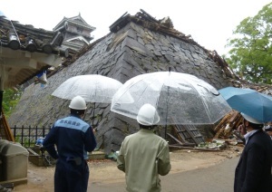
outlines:
M141 125L151 126L160 121L157 110L149 103L141 106L138 112L137 121Z

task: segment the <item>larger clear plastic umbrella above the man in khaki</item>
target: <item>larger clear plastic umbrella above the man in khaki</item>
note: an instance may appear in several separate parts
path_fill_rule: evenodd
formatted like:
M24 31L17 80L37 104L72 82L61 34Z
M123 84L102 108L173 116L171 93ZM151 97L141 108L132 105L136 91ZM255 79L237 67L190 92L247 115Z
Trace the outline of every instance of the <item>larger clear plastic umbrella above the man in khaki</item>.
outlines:
M231 110L208 82L181 72L151 72L131 78L113 95L111 110L137 119L145 103L157 109L159 125L214 124Z

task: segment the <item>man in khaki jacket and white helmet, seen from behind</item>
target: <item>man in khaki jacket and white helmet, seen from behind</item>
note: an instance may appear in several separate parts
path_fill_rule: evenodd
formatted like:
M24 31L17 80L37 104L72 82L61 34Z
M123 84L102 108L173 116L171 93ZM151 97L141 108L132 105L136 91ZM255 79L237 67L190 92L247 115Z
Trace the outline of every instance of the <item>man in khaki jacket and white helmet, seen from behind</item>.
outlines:
M153 132L160 117L151 104L144 104L137 121L141 130L121 143L117 168L125 172L127 191L160 191L159 175L167 175L171 168L168 142Z

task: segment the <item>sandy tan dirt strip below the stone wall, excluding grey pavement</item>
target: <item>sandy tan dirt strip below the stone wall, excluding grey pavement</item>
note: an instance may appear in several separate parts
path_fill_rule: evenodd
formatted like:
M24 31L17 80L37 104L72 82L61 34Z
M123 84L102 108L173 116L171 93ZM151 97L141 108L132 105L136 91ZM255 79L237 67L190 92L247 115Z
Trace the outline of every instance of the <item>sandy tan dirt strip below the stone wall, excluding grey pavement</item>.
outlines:
M239 156L243 146L228 145L227 149L219 151L201 151L179 149L170 152L170 174L192 170L196 168L209 168L217 165L227 158ZM124 181L124 173L116 168L116 162L110 159L89 162L91 184L111 184ZM13 191L21 192L52 192L54 167L37 167L31 162L28 164L27 184L15 186Z

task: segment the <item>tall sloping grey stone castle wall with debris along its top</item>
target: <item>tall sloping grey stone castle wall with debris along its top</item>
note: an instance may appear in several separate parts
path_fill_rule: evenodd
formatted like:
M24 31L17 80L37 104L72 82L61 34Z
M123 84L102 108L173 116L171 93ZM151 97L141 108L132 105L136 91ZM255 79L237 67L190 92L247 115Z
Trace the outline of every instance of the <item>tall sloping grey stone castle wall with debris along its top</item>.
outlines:
M83 74L102 74L122 83L141 73L186 72L209 82L216 89L231 86L228 76L204 48L173 36L151 31L133 22L106 35L75 62L48 78L46 86L31 84L9 118L11 126L46 127L69 114L69 101L51 93L65 80ZM88 103L84 117L97 128L98 147L106 153L118 150L122 139L136 130L136 120L111 111L111 104ZM92 112L94 110L94 117Z

